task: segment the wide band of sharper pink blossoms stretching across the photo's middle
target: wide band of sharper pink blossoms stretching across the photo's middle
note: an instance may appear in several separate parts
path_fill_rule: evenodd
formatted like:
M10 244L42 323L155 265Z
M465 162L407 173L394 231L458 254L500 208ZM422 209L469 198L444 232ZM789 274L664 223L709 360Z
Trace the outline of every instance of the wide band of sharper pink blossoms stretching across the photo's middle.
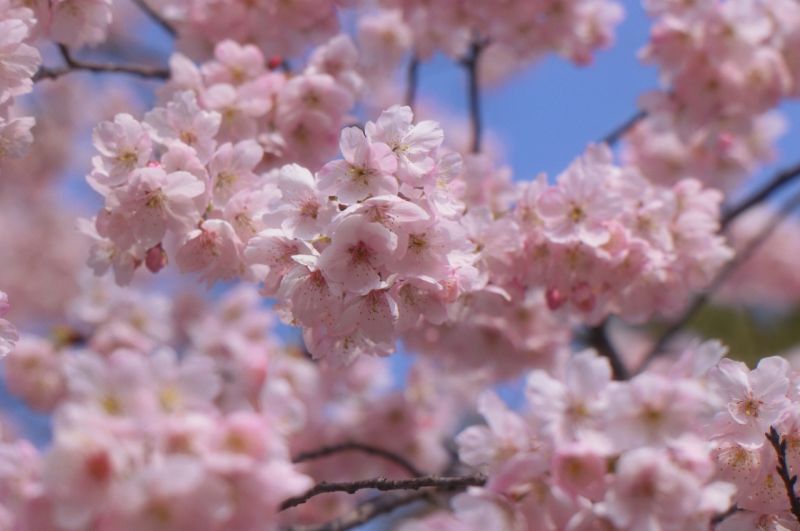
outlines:
M284 74L265 72L252 47L226 42L217 53L202 75L219 83L199 95L181 90L197 86L199 74L178 58L165 108L143 123L123 114L95 130L100 155L89 181L105 208L84 230L97 239L96 272L111 266L126 283L141 264L157 272L174 259L209 284L262 282L284 320L303 328L311 353L335 363L389 354L411 332L412 342L440 351L475 334L505 336L516 366L536 361L533 353L545 366L568 342L549 311L566 306L590 323L611 313L637 322L674 313L730 257L716 234L720 194L692 180L651 185L616 166L605 146L590 146L553 185L541 176L508 193L481 192L492 186L490 163L471 156L462 165L438 124L415 124L408 107L395 106L363 130L342 130L343 159L319 167L296 148L266 155L274 138L252 140L253 116L209 102ZM237 92L231 72L247 79L245 57L257 77ZM338 70L352 79L345 73ZM343 112L332 102L347 93L335 89L328 74L292 78L273 111L279 123L290 110L320 114L306 105ZM286 157L318 169L283 164ZM511 339L514 316L527 324ZM416 334L423 326L430 333ZM480 360L486 342L468 344L456 347L459 357Z

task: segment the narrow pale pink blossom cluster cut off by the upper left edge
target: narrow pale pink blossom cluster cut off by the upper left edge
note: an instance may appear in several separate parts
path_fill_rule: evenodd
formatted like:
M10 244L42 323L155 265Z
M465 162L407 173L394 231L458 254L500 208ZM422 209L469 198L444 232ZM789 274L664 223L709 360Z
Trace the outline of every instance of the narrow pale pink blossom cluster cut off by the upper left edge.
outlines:
M15 97L32 90L31 78L42 61L28 44L35 24L30 9L0 0L0 161L23 155L33 142L35 120L15 116L12 107Z

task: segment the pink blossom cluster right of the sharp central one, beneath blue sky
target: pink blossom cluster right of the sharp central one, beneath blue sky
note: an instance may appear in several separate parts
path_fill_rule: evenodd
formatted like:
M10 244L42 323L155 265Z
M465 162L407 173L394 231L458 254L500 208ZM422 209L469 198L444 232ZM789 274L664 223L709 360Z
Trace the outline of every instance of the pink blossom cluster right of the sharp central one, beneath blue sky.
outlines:
M502 214L468 214L490 282L516 300L544 289L551 309L584 322L674 314L732 256L717 234L720 193L695 180L653 185L614 165L605 145L590 146L554 185L542 175L517 196Z

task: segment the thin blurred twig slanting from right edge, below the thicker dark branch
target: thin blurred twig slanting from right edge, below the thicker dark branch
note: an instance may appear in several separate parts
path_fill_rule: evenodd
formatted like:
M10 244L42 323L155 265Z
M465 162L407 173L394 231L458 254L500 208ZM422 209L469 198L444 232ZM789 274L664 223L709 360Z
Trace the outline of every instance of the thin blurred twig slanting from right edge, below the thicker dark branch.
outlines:
M778 210L777 213L775 213L769 223L764 225L759 233L747 242L747 245L745 245L745 247L736 255L736 257L722 268L705 292L696 296L692 304L681 315L681 317L672 323L664 332L662 332L661 336L659 336L658 340L656 340L655 344L653 345L653 348L650 350L650 353L636 371L637 373L644 370L655 358L663 353L664 347L667 345L669 340L672 339L672 336L678 333L686 325L686 323L691 321L692 318L697 315L697 312L699 312L700 309L703 308L703 306L705 306L709 299L714 295L714 293L716 293L717 290L722 287L728 277L734 271L736 271L741 264L746 262L753 255L753 253L758 250L761 244L769 238L775 229L778 228L781 222L783 222L783 220L798 207L800 207L800 193L795 194L791 197L791 199L784 203L784 205L780 208L780 210Z

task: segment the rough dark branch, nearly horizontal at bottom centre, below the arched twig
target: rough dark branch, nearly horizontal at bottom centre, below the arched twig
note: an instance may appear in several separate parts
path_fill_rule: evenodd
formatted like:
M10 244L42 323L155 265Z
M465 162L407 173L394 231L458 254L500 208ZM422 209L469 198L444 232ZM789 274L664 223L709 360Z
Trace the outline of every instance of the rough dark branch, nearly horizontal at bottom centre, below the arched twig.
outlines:
M375 490L418 490L426 487L433 487L436 490L460 490L471 485L483 485L486 483L486 476L456 476L456 477L442 477L442 476L422 476L413 479L386 479L386 478L373 478L362 479L357 481L345 482L328 482L322 481L315 486L311 487L304 494L295 496L284 500L280 505L281 510L289 509L306 503L314 496L326 494L330 492L347 492L348 494L355 494L359 490L375 489Z

